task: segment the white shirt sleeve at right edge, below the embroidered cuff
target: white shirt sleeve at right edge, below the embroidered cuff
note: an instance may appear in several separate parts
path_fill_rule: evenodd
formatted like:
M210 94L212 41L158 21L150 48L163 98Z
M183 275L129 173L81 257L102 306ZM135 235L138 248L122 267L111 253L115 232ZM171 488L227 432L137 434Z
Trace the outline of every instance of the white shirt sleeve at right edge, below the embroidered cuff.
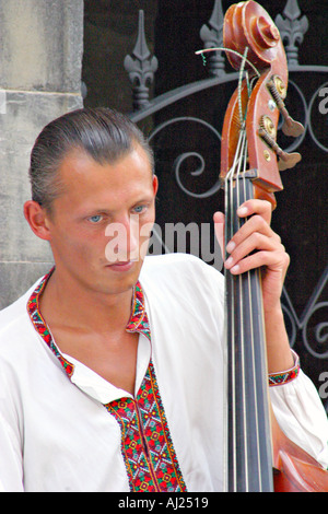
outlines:
M313 382L300 370L294 379L270 387L270 397L285 435L328 469L328 420Z

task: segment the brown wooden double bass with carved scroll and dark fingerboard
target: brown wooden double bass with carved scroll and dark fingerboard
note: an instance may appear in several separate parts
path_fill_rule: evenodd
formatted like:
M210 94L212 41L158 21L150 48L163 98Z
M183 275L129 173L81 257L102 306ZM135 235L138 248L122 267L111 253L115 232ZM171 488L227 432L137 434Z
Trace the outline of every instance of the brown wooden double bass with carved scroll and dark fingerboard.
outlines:
M226 11L223 46L238 86L224 117L221 182L225 195L226 243L241 227L236 210L250 198L276 208L283 186L280 172L298 153L277 142L279 120L285 135L303 126L289 115L284 98L288 65L279 31L257 2ZM244 78L244 75L246 75ZM328 471L290 441L274 418L269 395L261 300L261 270L241 276L225 271L227 339L227 490L239 492L328 491Z

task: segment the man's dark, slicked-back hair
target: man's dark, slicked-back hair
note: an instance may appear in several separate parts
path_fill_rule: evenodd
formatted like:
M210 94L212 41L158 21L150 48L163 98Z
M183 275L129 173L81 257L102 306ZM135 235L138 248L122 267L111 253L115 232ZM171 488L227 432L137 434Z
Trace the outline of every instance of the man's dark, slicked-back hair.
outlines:
M99 164L114 164L140 145L154 167L153 153L141 130L125 115L106 108L82 108L50 121L37 137L31 153L32 199L51 210L62 192L58 173L66 155L81 149Z

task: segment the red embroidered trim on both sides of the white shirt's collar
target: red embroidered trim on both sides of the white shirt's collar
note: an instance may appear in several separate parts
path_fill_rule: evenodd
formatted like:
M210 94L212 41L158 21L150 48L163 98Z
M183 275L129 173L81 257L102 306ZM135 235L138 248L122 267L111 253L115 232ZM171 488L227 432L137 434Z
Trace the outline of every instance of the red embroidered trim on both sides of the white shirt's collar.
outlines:
M70 363L59 351L58 347L55 343L52 335L50 332L49 327L47 326L46 320L43 318L39 308L39 299L43 294L49 278L51 277L55 268L52 268L37 284L36 289L31 294L27 301L27 313L32 320L32 324L37 331L37 334L42 337L42 339L46 342L46 344L50 348L52 353L57 357L59 362L61 363L62 367L65 369L66 373L69 377L72 376L74 372L74 365ZM150 325L148 320L148 315L145 312L144 306L144 294L142 287L139 281L137 281L133 288L133 295L132 295L132 305L131 305L131 314L130 319L126 326L126 330L128 332L139 332L144 335L149 340L151 340L151 331Z

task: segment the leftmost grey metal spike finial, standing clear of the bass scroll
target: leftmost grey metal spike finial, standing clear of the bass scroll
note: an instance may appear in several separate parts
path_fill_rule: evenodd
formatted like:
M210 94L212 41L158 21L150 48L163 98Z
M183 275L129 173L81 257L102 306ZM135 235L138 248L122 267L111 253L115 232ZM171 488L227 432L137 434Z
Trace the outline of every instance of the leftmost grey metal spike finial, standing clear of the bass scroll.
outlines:
M129 73L133 93L133 109L138 110L149 105L149 89L157 70L157 59L150 57L144 34L144 13L139 11L138 37L132 56L126 56L124 66Z

